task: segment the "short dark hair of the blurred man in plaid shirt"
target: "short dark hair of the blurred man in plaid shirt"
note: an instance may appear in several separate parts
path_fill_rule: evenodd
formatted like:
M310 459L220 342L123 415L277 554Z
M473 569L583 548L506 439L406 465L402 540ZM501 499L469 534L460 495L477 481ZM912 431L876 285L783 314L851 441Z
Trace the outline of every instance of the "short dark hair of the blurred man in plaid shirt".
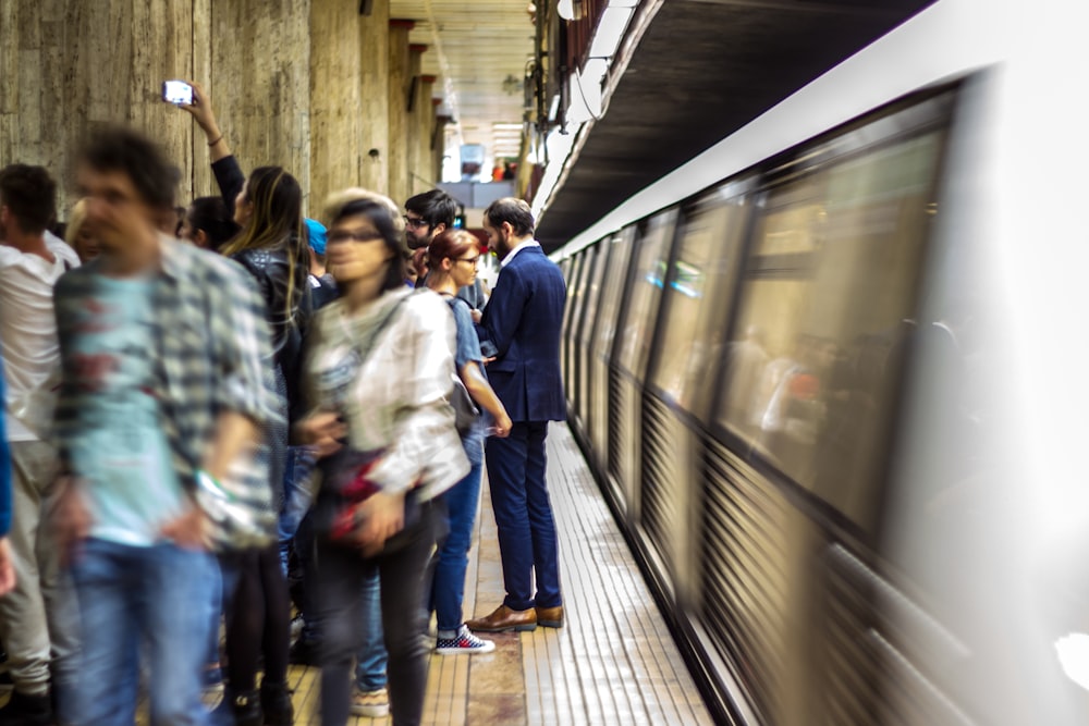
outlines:
M97 172L124 173L148 206L173 209L181 171L143 134L125 126L107 126L86 141L78 160Z

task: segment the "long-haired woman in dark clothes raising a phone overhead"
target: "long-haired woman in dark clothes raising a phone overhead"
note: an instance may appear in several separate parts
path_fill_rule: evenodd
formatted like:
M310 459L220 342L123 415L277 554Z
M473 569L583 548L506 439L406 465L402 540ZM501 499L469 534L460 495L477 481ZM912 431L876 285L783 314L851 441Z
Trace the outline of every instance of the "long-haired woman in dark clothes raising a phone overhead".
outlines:
M309 254L303 225L303 190L282 167L259 167L246 177L216 119L212 100L200 84L191 84L193 102L183 104L208 138L211 168L223 204L241 231L220 249L252 275L265 299L272 333L272 357L266 362L284 407L264 432L269 444L273 506L284 510L305 481L286 476L287 421L301 410L303 337L310 316ZM297 525L297 522L296 522ZM292 537L294 532L290 533ZM289 726L294 709L287 690L291 608L284 562L278 544L240 555L237 586L228 619L229 697L240 724ZM225 577L224 583L230 577ZM224 587L224 592L229 587ZM261 689L256 690L264 656Z

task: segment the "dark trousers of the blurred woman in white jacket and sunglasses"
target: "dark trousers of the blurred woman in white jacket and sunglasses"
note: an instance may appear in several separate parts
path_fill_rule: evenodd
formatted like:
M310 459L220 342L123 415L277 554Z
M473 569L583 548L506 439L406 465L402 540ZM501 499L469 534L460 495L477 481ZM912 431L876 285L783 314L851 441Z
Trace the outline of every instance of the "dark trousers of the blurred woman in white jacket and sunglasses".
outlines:
M363 641L364 578L378 570L382 631L389 651L390 709L396 726L415 726L424 713L427 652L420 639L423 574L435 547L441 507L420 505L419 519L387 542L375 557L318 543L318 612L321 620L321 724L347 723L352 661Z

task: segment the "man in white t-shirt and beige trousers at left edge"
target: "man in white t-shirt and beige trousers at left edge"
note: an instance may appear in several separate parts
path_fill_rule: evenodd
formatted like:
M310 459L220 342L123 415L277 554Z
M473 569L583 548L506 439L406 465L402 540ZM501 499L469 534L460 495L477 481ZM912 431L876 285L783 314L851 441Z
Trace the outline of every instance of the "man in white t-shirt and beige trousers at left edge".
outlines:
M0 709L5 724L51 724L50 680L61 723L68 721L69 684L76 677L77 613L61 587L60 552L41 512L56 479L58 457L42 441L52 419L49 387L59 368L53 285L79 258L46 231L56 214L57 185L41 167L0 170L0 349L4 358L4 414L12 454L11 549L17 585L0 599L0 640L15 690ZM52 673L52 678L50 678Z

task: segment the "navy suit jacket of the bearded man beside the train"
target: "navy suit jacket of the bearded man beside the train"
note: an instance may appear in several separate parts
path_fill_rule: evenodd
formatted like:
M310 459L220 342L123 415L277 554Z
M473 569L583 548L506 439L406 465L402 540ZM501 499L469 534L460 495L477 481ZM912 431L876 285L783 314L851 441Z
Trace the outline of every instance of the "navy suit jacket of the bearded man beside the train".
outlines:
M495 350L488 380L512 421L566 418L560 374L566 297L563 273L539 247L521 250L499 273L480 328Z

